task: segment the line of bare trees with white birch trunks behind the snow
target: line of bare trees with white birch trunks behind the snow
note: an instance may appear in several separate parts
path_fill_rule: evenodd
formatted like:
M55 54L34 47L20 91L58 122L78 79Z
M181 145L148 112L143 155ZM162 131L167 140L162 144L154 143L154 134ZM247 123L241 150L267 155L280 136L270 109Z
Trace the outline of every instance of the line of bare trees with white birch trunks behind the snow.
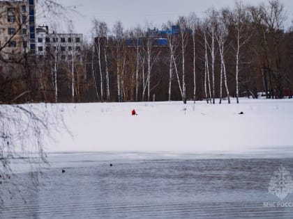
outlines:
M54 48L43 58L1 60L0 102L139 102L230 97L292 96L293 28L284 29L283 3L194 13L168 21L162 31L110 30L93 19L82 57L62 60ZM9 92L8 92L9 90Z

